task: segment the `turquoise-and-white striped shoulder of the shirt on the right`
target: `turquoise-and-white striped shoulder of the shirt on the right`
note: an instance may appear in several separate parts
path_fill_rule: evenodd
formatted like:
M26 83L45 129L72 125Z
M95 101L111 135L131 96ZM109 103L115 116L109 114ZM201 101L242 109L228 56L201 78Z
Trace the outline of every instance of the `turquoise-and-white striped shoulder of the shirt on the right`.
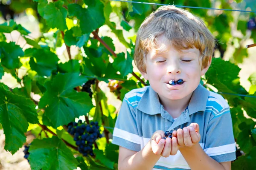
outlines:
M219 116L224 112L229 112L230 106L223 96L210 91L206 103L206 111L211 112L212 116Z

